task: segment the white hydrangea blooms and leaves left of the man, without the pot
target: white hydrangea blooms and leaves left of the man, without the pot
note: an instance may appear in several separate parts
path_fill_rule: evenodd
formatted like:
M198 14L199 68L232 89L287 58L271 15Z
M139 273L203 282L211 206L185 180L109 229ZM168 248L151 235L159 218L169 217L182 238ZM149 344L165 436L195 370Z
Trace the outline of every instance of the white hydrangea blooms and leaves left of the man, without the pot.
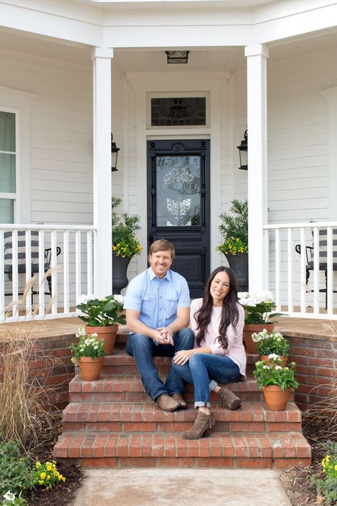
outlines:
M101 299L95 295L82 295L76 307L84 315L78 317L90 327L125 325L127 320L123 313L123 302L122 295L107 295Z

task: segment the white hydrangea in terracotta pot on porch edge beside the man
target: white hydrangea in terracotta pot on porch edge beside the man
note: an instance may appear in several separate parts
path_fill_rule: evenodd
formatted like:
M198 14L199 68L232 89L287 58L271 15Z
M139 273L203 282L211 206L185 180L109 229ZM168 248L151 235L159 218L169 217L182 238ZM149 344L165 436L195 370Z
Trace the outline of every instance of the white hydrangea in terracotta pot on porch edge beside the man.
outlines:
M99 299L95 295L82 295L77 309L82 312L78 317L85 322L87 334L97 334L105 343L105 352L112 354L118 332L118 325L125 325L122 295L107 295Z

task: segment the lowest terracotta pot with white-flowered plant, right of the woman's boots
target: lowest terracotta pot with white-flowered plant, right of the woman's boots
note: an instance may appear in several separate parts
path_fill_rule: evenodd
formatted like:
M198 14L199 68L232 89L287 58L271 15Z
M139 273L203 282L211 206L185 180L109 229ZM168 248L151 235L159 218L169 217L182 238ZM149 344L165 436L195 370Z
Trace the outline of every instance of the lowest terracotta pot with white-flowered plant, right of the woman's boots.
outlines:
M267 408L271 411L284 411L290 395L290 389L299 384L295 379L295 362L289 367L282 367L278 355L269 356L269 364L263 360L255 364L252 374L257 379L257 386L262 389Z

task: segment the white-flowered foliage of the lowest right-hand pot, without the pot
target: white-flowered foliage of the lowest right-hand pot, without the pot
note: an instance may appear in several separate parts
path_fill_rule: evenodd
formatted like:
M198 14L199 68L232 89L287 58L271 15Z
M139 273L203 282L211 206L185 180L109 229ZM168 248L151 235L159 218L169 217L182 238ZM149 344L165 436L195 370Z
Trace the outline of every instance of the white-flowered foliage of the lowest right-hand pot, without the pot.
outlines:
M255 370L252 374L257 379L257 386L262 389L264 386L279 386L283 391L288 388L296 389L299 383L295 379L295 362L291 362L289 367L281 367L279 355L271 353L268 356L269 364L263 360L256 362Z

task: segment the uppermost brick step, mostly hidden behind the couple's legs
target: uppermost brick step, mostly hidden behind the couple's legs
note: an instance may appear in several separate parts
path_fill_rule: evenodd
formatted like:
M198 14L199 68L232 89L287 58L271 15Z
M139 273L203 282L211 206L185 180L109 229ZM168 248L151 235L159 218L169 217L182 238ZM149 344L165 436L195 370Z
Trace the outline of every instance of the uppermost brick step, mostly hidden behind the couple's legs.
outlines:
M252 372L254 364L258 359L259 355L247 354L247 373ZM158 369L159 375L167 376L171 362L171 357L154 357L154 364ZM80 374L78 366L76 366L76 374ZM138 374L134 357L127 355L124 349L114 348L113 354L105 357L103 374Z

